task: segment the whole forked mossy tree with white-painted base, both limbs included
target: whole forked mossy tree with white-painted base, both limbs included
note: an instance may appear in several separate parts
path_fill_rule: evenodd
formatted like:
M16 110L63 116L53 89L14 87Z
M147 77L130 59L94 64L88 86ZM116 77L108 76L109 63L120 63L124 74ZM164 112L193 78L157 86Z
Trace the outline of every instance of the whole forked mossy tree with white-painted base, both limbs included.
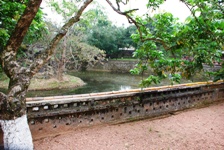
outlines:
M3 52L0 53L2 68L10 79L8 93L0 92L0 123L4 132L5 149L33 149L32 137L26 117L26 93L30 81L33 75L48 62L54 53L56 45L66 35L68 29L79 21L83 11L92 1L85 0L76 14L64 24L52 39L45 52L38 59L34 60L30 66L22 67L16 59L17 51L42 0L30 0L28 2L14 32L10 36ZM21 135L25 137L23 138Z

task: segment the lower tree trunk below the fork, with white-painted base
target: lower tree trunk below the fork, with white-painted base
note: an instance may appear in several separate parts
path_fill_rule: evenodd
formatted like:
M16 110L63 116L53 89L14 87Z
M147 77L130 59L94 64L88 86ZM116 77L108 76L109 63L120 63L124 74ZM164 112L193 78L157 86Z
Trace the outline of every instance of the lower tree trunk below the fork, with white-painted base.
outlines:
M3 131L4 148L7 150L33 149L25 99L31 78L26 74L17 73L10 79L8 94L0 92L0 119L2 119L0 124Z

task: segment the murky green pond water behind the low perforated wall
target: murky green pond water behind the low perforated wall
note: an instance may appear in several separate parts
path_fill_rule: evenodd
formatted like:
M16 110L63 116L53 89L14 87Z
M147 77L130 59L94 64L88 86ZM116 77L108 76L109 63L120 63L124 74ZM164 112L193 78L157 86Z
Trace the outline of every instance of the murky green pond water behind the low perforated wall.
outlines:
M58 89L51 91L29 91L27 97L39 97L39 96L57 96L57 95L74 95L85 93L97 93L108 91L120 91L128 89L140 88L139 82L141 76L124 74L124 73L111 73L111 72L69 72L68 74L81 78L86 85L79 88ZM198 78L196 81L201 81ZM182 80L182 83L191 82ZM169 80L162 81L159 85L170 85Z

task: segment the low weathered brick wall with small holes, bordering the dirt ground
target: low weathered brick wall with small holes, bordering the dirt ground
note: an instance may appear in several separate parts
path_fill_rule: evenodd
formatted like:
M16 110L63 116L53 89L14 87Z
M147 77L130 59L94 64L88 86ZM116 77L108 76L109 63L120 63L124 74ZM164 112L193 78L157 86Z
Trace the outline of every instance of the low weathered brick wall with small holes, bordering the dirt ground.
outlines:
M194 83L121 92L27 98L34 139L101 123L168 114L224 100L224 83Z

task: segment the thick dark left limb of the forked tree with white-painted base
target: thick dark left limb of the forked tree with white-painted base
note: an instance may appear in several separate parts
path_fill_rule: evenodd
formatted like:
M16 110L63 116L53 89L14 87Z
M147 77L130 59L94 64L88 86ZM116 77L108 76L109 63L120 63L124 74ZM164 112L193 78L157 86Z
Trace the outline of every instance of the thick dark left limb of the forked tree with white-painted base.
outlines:
M17 50L20 47L29 26L36 16L42 0L30 0L27 7L20 17L17 25L11 34L3 52L0 54L0 62L8 77L16 74L16 70L20 70L20 65L16 61Z

